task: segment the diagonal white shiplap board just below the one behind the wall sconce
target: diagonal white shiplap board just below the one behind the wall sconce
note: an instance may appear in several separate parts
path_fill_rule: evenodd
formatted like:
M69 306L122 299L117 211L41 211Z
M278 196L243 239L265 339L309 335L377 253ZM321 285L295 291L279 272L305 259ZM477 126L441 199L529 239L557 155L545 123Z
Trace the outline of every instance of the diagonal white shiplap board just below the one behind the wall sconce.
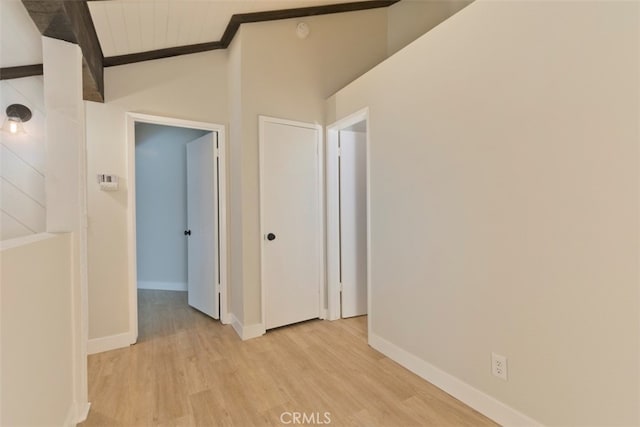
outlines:
M44 175L0 144L1 176L25 195L45 205Z

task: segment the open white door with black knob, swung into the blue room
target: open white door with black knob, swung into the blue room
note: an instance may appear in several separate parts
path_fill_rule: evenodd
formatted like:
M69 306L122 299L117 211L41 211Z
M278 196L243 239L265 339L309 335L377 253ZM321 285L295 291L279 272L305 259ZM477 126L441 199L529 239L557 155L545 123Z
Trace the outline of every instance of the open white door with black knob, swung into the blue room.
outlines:
M216 144L216 132L187 144L188 301L214 319L220 316Z

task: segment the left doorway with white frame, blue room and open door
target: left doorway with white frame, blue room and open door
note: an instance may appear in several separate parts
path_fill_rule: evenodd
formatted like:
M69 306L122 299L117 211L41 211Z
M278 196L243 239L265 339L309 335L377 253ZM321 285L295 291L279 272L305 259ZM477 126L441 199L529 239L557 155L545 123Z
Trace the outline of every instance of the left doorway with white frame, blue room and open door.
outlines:
M224 127L130 113L127 130L132 341L138 287L187 290L190 306L228 323Z

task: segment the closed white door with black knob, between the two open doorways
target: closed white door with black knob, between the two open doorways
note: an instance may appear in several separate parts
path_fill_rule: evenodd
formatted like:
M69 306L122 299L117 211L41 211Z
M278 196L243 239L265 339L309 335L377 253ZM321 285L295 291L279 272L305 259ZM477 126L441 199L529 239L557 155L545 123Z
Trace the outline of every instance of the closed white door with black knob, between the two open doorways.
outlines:
M320 316L320 130L260 118L265 328Z

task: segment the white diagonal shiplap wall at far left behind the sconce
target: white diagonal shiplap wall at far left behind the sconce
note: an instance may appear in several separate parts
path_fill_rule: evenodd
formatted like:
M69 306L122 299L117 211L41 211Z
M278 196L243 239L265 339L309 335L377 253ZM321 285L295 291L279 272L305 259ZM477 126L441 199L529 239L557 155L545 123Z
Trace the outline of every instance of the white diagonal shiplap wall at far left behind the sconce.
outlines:
M0 240L46 228L43 92L42 77L0 81L0 126L8 105L23 104L33 114L26 133L0 132Z

